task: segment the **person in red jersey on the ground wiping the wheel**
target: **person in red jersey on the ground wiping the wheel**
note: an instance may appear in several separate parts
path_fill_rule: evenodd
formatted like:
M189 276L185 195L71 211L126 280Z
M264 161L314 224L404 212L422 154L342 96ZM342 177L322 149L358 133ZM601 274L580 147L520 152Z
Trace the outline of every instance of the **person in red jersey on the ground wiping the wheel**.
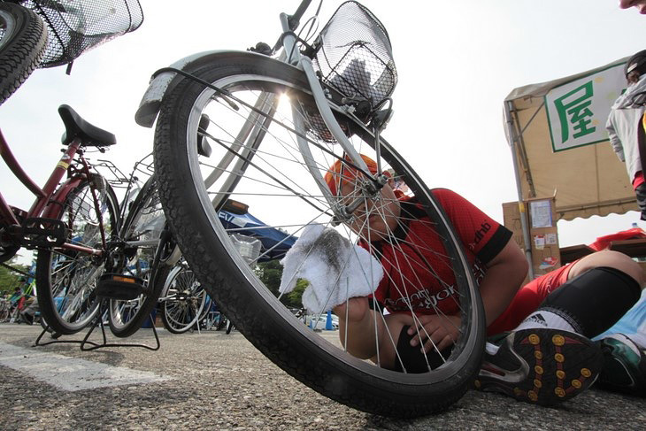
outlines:
M377 173L374 161L362 157L370 172ZM350 201L358 191L358 176L337 161L325 180L333 194ZM396 193L392 181L346 223L358 235L358 245L380 259L384 272L388 262L397 259L427 262L433 268L388 274L372 295L342 299L334 312L341 342L350 354L395 371L425 373L429 365L442 364L459 338L460 316L451 307L458 304L451 298L458 293L447 289L455 283L452 273L443 280L436 276L443 276L438 256L445 252L439 250L442 241L433 224L416 210L414 198ZM604 250L521 286L527 259L511 232L457 193L431 192L473 264L488 335L496 340L487 343L477 388L542 405L558 404L587 389L604 364L602 350L590 338L635 304L644 283L641 267L622 253ZM488 227L486 232L482 226ZM427 245L425 256L413 256L411 247L402 246L416 241ZM413 291L419 295L401 294ZM433 307L424 303L424 298L437 298L440 292L442 300Z

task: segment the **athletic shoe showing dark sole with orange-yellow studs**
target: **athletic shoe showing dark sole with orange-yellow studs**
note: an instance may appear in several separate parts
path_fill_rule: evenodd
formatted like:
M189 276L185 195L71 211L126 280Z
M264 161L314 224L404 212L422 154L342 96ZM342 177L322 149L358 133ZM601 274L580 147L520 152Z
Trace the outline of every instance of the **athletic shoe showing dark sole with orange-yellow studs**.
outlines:
M497 344L487 343L475 387L527 403L554 405L587 389L603 363L599 347L583 335L523 329Z

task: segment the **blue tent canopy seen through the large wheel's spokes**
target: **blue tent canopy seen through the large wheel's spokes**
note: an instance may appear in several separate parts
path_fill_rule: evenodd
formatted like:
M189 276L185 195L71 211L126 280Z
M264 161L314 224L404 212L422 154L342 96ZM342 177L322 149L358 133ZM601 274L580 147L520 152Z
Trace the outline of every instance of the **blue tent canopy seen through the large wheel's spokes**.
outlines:
M231 233L253 236L262 242L260 262L282 258L297 239L280 229L268 227L249 212L239 214L220 210L218 216L222 226Z

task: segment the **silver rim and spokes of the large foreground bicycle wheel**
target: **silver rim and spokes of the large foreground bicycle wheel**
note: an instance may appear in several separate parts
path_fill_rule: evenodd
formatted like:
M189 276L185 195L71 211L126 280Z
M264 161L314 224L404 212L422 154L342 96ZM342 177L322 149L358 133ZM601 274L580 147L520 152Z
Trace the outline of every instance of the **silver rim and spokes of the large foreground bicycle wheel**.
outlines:
M442 381L455 373L457 367L463 366L466 360L465 355L460 355L458 350L473 350L473 337L471 336L462 337L458 341L457 347L453 349L454 354L452 356L445 355L442 358L446 366L440 366L433 370L433 372L425 373L424 377L420 377L419 374L406 375L394 373L382 368L379 358L377 358L377 366L374 366L369 361L358 360L343 352L338 342L330 341L328 337L321 337L304 327L288 311L287 306L281 304L281 302L289 303L287 296L276 293L275 289L272 293L272 290L265 286L264 282L261 281L262 273L266 270L264 261L269 258L273 261L281 258L284 255L284 253L281 253L281 250L287 248L285 244L288 244L290 240L293 241L296 236L301 235L305 225L321 223L325 226L330 226L333 212L327 207L326 200L321 196L321 192L304 166L301 156L296 149L296 138L290 132L290 130L295 128L294 123L290 119L287 119L292 111L287 99L284 98L286 96L283 96L281 92L282 89L289 89L290 84L278 79L267 78L266 76L240 74L216 81L214 85L220 89L227 89L233 96L218 96L212 89L205 89L196 98L196 102L193 104L193 109L188 118L186 131L188 163L193 175L193 187L197 190L202 209L209 217L213 232L218 235L219 241L227 250L235 265L238 266L242 277L253 285L258 291L258 294L264 296L267 302L273 304L276 312L281 315L282 319L289 322L293 330L299 331L304 338L310 339L321 350L329 352L335 358L340 358L345 363L365 373L377 375L387 381L404 381L412 384L417 384L422 381L427 383ZM261 89L264 91L260 91ZM220 161L226 160L234 151L238 153L242 152L242 150L236 147L236 140L241 136L239 131L245 128L244 123L249 119L248 114L245 113L250 112L248 106L258 106L258 100L264 97L265 93L271 93L273 89L279 90L275 98L275 100L279 100L279 105L275 109L275 112L272 109L266 110L271 112L272 119L267 121L268 125L265 124L259 127L262 130L260 135L264 135L260 147L258 150L251 151L250 155L244 155L242 157L235 156L233 162L229 163L226 167L222 167L222 164L219 163ZM302 102L306 91L301 89L297 91L294 91L294 89L290 90L288 92L292 94L292 100L301 99L301 102L297 106L297 111L304 112L309 110L311 107L310 104ZM272 100L271 97L268 99ZM246 102L246 104L241 103L240 100ZM233 105L237 107L237 110L232 111L231 108ZM211 119L205 133L199 129L200 121L204 119L202 114L208 115ZM285 119L282 119L283 115ZM266 118L261 116L261 119L264 120ZM311 115L303 116L302 120L305 124L312 124ZM233 126L234 124L237 124L237 127ZM229 127L234 132L229 131ZM310 128L316 129L317 127L311 126ZM198 132L198 129L200 132ZM253 129L253 127L250 127L250 129ZM361 130L358 130L358 132L363 133ZM205 136L206 140L210 142L214 154L219 151L218 154L211 156L206 161L204 161L204 158L196 150L197 139L201 139L201 136ZM245 139L249 138L249 136L253 137L254 133L247 134ZM321 174L324 174L336 158L342 158L342 149L340 149L338 144L319 139L320 136L321 134L317 132L308 133L311 141L318 142L321 146L321 148L315 149L316 153L312 157L315 158L316 165ZM358 152L374 160L378 159L382 163L382 170L394 168L395 173L393 178L397 181L404 181L404 173L401 169L406 164L396 156L394 151L389 149L387 151L390 162L388 164L386 163L386 158L378 157L368 143L361 142L358 135L354 135L352 140L356 143ZM386 150L386 148L383 148L383 150ZM312 150L312 153L314 153L314 150ZM237 171L240 167L234 166L235 162L241 160L246 160L245 163L248 165L244 172L245 176L242 178L232 174L232 172ZM230 181L234 177L235 181L227 183L227 181ZM414 179L411 180L414 181ZM425 193L425 191L421 191L422 185L415 183L414 187L412 184L404 184L402 186L404 194L407 193L405 191L406 186L409 190L415 189L419 191L420 195ZM281 240L277 244L272 244L271 242L267 244L263 243L258 257L247 258L243 256L240 249L236 248L235 243L230 239L230 235L242 233L245 235L263 236L262 231L266 227L259 227L250 233L249 227L235 225L235 214L216 213L213 210L213 206L221 204L225 198L249 204L250 214L262 220L268 227L287 232L288 239ZM424 204L427 206L433 205L429 202L427 195L419 196L419 199L426 199ZM375 202L379 200L379 198L374 199ZM294 202L298 205L296 209L292 209L296 205ZM383 213L380 214L380 209L384 208L384 206L385 204L381 202L381 204L374 204L373 209L375 213L382 216ZM358 236L351 232L349 228L341 225L340 227L336 227L336 230L341 235L347 237L351 243L357 242ZM450 234L447 233L446 235ZM451 266L459 266L461 268L460 271L462 271L462 273L458 274L457 283L460 286L457 290L458 296L462 296L464 302L458 304L458 306L464 307L461 310L465 319L473 320L475 319L471 304L471 297L474 295L473 282L467 280L468 277L464 271L464 268L469 264L462 257L458 256L455 258L455 260L460 259L462 261L455 264L451 262L450 264ZM263 266L263 268L258 270L258 264ZM198 273L199 275L200 273ZM218 300L217 292L213 292L213 295ZM410 293L408 295L410 299ZM223 304L223 306L226 305ZM294 306L295 304L288 305ZM235 320L235 311L229 313L227 310L227 314L230 314L234 319L236 327L240 327L240 330L244 333L245 322ZM468 323L465 323L462 329L463 331L472 330ZM391 335L390 338L393 339L395 336Z

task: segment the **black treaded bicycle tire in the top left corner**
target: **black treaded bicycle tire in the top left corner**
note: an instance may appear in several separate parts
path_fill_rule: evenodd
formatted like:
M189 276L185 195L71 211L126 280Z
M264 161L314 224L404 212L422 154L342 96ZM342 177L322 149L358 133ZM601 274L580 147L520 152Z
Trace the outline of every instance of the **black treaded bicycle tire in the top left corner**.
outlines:
M47 27L35 12L0 3L0 104L34 72L46 47Z

